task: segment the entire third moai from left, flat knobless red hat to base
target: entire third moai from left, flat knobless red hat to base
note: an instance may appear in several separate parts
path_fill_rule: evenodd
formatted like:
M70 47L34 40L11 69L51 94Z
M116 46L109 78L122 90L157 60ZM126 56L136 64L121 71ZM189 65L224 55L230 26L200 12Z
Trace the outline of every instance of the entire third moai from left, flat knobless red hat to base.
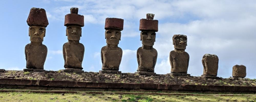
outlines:
M101 48L102 70L99 73L121 73L119 66L121 63L123 50L118 47L121 40L124 20L119 18L106 18L105 39L106 46Z

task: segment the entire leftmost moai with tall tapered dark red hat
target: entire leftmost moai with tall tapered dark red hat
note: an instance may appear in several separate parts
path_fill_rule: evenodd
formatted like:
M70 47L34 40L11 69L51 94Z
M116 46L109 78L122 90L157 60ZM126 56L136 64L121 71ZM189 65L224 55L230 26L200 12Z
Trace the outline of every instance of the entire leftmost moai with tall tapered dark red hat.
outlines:
M47 56L47 47L42 44L45 37L46 27L49 24L45 9L31 8L27 24L30 43L25 46L26 68L23 71L44 71Z

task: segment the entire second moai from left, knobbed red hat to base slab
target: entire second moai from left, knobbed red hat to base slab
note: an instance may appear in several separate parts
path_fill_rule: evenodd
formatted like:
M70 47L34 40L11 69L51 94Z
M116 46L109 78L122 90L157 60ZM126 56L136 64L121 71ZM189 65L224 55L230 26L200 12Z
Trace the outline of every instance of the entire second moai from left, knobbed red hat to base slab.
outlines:
M83 73L82 61L84 46L79 43L84 26L84 16L78 14L78 8L70 8L70 14L65 15L66 36L68 42L63 45L63 57L65 70L62 72Z

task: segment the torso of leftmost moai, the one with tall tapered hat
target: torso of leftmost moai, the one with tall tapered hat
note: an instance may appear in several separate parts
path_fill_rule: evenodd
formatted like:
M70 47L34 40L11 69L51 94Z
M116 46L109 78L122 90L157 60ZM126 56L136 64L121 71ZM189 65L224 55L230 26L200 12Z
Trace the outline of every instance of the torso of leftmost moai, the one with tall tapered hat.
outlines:
M35 46L31 43L25 46L26 68L44 69L47 56L47 47L45 45Z

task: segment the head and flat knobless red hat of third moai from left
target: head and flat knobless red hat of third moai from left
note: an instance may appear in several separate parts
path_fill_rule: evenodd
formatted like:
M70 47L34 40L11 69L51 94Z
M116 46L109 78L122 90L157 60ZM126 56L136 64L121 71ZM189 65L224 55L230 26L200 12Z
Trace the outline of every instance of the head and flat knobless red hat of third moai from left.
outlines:
M107 44L118 45L121 40L124 20L119 18L106 18L105 39Z

